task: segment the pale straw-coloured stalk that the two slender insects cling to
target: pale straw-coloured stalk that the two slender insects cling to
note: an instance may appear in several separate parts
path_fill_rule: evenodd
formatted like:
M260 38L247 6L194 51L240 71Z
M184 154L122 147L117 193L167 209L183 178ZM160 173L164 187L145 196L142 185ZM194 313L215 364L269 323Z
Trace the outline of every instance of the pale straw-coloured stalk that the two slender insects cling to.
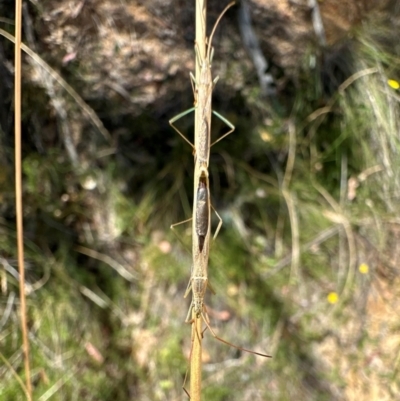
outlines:
M207 0L196 1L196 82L200 81L200 62L206 56L206 21L207 21ZM201 131L198 122L201 119L198 113L201 113L199 107L195 109L195 135ZM201 399L201 371L202 371L202 320L201 316L196 316L194 308L192 309L192 355L190 358L190 397L193 401Z

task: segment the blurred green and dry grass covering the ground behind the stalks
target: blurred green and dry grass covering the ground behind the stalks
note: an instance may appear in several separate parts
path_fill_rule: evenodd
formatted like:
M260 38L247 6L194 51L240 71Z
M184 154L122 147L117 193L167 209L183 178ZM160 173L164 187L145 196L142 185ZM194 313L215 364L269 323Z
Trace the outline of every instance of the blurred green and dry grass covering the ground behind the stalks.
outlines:
M388 298L386 277L398 272L393 244L400 98L387 80L399 79L400 62L394 29L381 27L366 25L354 33L351 52L338 54L346 61L342 86L321 82L322 66L310 70L305 60L297 86L274 105L259 101L255 87L232 99L238 109L229 118L237 130L211 155L213 204L224 224L209 266L216 295L207 293L206 302L218 335L274 358L236 352L207 330L204 399L320 401L334 394L346 399L346 388L354 384L349 364L355 376L366 378L367 394L374 349L389 371L398 370L383 356L385 340L368 326L381 313L374 291ZM355 75L360 71L365 74ZM122 133L115 154L97 158L85 143L80 170L57 144L47 145L44 154L26 144L35 400L186 397L181 387L191 330L184 323L190 299L183 294L191 268L191 223L176 228L180 240L169 226L190 216L193 162L188 146L151 116L146 110L129 120L136 123L134 135ZM294 161L284 188L290 151ZM2 171L8 177L11 164ZM352 199L350 178L358 185ZM11 179L0 182L1 263L11 266L11 273L0 270L7 282L3 312L17 282L13 189ZM109 259L83 254L78 246L108 256L134 278L125 279ZM282 263L296 249L298 264L293 258ZM360 263L370 266L368 275L358 271ZM338 294L338 303L328 302L330 292ZM365 294L378 306L369 308ZM23 400L16 379L23 379L17 300L1 329L0 348L8 362L0 362L0 398ZM392 345L392 359L398 360L398 352ZM397 377L379 374L376 385L394 386Z

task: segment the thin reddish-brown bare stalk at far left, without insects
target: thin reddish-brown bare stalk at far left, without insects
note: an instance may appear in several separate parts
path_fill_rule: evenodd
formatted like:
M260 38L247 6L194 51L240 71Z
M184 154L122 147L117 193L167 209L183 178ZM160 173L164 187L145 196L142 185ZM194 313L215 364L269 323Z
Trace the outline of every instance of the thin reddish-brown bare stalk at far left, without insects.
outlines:
M20 317L25 362L26 396L32 401L32 384L29 367L29 341L26 322L24 239L22 220L22 168L21 168L21 25L22 1L15 2L15 79L14 79L14 117L15 117L15 209L17 215L17 247L19 270Z

